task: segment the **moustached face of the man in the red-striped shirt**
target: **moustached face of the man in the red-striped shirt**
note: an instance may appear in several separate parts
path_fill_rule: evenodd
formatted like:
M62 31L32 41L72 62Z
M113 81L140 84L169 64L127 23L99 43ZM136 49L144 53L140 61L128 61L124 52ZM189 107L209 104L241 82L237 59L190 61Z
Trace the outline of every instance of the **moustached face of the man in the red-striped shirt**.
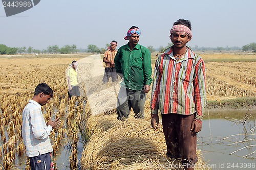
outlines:
M190 41L190 37L188 37L186 34L180 34L180 33L173 33L172 36L170 36L170 40L174 43L174 46L177 48L182 48L186 46L186 43Z

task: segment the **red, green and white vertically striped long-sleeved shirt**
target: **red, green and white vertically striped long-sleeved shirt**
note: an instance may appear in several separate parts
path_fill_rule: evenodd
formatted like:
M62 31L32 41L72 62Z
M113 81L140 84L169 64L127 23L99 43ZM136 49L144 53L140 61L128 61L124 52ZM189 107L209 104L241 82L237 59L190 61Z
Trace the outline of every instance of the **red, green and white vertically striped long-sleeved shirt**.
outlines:
M196 114L202 122L206 104L205 65L189 47L183 59L176 60L169 47L156 60L152 94L152 114Z

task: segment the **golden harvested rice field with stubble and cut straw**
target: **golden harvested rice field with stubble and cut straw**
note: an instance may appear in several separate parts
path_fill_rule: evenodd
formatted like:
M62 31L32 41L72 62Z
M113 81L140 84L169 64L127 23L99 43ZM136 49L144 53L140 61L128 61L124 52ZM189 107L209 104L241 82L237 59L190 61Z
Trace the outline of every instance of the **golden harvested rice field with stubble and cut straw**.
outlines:
M256 55L202 54L206 62L207 100L249 99L255 105ZM119 84L102 85L100 55L2 55L0 76L0 169L29 169L21 136L22 111L37 84L45 82L54 96L42 107L45 119L60 117L61 128L51 134L55 169L182 169L180 160L165 156L162 129L150 124L150 95L145 119L132 112L124 122L116 119ZM79 62L79 99L68 101L66 70ZM154 61L153 61L154 65ZM82 143L79 152L77 143ZM63 151L67 158L59 160ZM209 169L198 151L196 169ZM22 159L21 159L22 158ZM57 162L57 163L56 163ZM60 163L61 162L61 163Z

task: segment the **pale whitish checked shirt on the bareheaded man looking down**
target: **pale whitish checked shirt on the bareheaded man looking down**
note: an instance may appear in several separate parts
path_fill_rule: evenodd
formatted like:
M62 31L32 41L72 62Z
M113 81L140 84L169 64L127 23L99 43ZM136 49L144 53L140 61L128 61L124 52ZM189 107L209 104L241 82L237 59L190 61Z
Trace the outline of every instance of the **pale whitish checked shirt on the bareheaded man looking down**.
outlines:
M23 110L22 137L26 148L26 155L34 157L52 152L50 133L52 127L46 126L42 115L41 105L33 100Z

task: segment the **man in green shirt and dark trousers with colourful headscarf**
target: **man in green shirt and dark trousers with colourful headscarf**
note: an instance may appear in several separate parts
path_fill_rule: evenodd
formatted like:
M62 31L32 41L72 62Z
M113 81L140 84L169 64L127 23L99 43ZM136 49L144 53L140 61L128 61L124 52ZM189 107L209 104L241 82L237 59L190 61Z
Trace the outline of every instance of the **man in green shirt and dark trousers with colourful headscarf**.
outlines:
M135 118L144 118L146 93L152 83L150 51L138 44L141 31L133 26L125 40L129 42L118 49L115 61L117 74L123 79L117 96L117 119L128 118L133 108Z

